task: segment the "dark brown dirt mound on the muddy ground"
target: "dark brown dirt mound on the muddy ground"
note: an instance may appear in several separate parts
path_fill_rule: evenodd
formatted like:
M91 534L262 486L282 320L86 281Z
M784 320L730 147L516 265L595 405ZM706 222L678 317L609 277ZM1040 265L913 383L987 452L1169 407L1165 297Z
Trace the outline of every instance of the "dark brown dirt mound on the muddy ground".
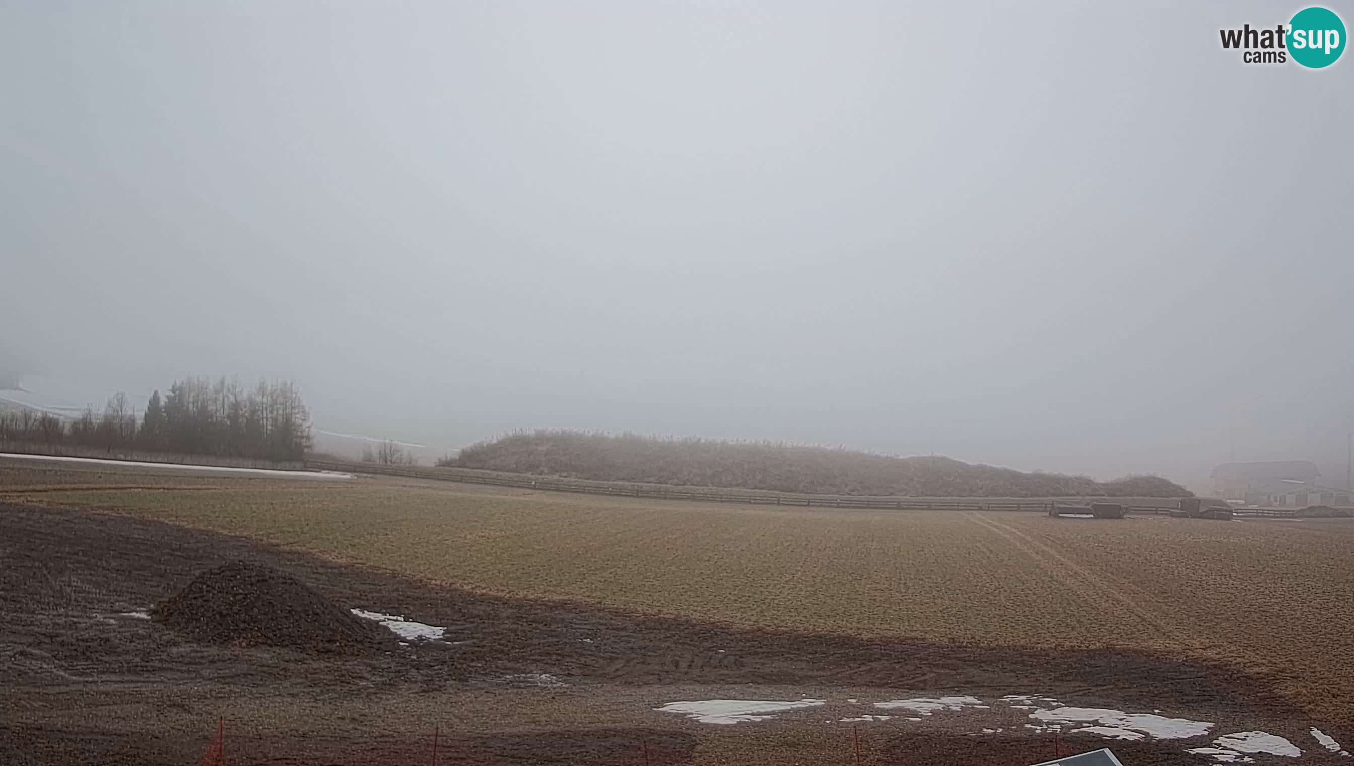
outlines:
M390 648L394 636L271 567L234 561L202 572L152 618L204 643L324 653Z

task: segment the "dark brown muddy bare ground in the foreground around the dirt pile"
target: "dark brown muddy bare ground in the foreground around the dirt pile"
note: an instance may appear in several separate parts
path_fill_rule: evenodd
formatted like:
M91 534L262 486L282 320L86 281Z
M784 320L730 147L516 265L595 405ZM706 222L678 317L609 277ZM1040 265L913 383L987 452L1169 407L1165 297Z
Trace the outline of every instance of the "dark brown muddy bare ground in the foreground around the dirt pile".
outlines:
M191 643L127 616L233 560L279 568L345 607L447 628L454 644L362 659ZM1056 620L1057 616L1051 616ZM1047 694L1064 704L1217 721L1288 736L1304 762L1323 728L1274 679L1124 649L1049 652L749 630L510 599L357 568L242 538L114 514L0 507L0 763L195 763L217 721L229 763L852 763L842 717L940 694ZM556 685L558 683L558 685ZM677 700L827 700L769 721L709 725ZM860 704L848 702L860 700ZM937 713L858 727L862 763L1034 763L1051 733L1024 710ZM1001 728L999 733L980 733ZM1014 731L1014 733L1013 733ZM1066 735L1133 763L1208 763L1206 740ZM647 755L646 755L647 751ZM1257 761L1293 759L1258 755Z

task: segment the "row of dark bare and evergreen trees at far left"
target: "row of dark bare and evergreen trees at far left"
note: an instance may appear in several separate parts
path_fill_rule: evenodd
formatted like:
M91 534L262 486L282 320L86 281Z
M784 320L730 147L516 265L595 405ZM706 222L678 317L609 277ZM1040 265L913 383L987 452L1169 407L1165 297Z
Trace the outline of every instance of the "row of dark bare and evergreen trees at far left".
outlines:
M69 423L34 409L9 412L0 418L0 439L278 461L301 460L311 445L310 412L295 385L259 381L246 390L225 377L175 381L164 399L156 390L139 422L121 392L103 411L89 407Z

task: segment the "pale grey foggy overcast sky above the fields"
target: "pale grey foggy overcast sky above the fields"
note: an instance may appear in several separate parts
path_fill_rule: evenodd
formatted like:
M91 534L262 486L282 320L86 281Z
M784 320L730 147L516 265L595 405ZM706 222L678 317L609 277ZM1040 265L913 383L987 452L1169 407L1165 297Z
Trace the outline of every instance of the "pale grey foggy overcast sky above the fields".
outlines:
M0 0L0 366L451 447L1343 479L1354 54L1108 5Z

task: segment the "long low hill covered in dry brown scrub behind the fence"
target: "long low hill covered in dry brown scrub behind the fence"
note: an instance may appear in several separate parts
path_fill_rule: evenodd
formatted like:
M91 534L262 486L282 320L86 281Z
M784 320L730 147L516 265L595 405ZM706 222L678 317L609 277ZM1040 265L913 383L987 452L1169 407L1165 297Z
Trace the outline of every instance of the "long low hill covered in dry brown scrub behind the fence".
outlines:
M1187 498L1158 476L1095 481L1085 476L1024 473L948 457L891 457L769 442L665 439L634 434L519 431L473 445L441 465L563 476L819 495L911 498L1137 496Z

